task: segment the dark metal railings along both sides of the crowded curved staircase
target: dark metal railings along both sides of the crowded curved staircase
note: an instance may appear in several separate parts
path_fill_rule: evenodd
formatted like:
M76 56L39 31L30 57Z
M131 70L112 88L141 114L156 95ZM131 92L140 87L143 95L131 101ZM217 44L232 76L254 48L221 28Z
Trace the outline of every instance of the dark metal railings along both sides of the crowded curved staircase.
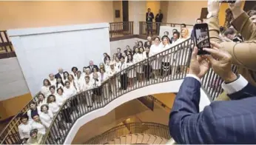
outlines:
M105 107L111 101L121 97L121 95L124 95L127 92L152 84L183 79L188 71L190 54L193 47L194 41L189 38L186 41L183 41L181 44L177 44L168 50L156 55L152 55L149 58L146 58L144 61L140 61L137 64L133 64L126 69L121 70L119 73L116 73L107 79L107 81L104 81L101 84L101 87L80 92L77 95L74 95L72 98L69 98L59 109L57 115L55 115L53 122L49 129L47 129L47 133L44 135L44 140L41 143L63 144L70 132L70 129L73 127L73 124L75 124L75 121L78 118L86 115L88 112L94 111L95 109ZM164 61L164 64L169 66L168 70L161 72L152 70L152 67L161 68L162 61ZM130 80L128 78L135 78L137 70L140 69L144 70L144 73L141 74L144 77L144 81L136 81L134 84L131 84L128 87L127 81ZM203 77L202 88L205 90L211 100L215 99L223 91L220 85L218 85L221 82L222 80L220 80L218 75L216 75L212 70L209 70L209 72ZM95 98L95 102L92 104L92 107L87 107L86 101L88 98ZM34 98L32 101L35 100L36 98ZM78 104L75 102L78 102ZM68 113L63 111L64 109L70 107L76 107L78 112ZM27 112L27 109L28 105L24 107L20 113ZM64 118L67 116L70 116L72 120L71 124L64 121ZM1 144L21 143L21 139L16 135L18 133L18 125L20 123L21 121L19 121L18 115L16 115L10 124L8 124L7 127L2 131ZM60 123L62 123L66 129L60 129ZM60 137L58 143L54 141L55 139L52 138L53 136Z

